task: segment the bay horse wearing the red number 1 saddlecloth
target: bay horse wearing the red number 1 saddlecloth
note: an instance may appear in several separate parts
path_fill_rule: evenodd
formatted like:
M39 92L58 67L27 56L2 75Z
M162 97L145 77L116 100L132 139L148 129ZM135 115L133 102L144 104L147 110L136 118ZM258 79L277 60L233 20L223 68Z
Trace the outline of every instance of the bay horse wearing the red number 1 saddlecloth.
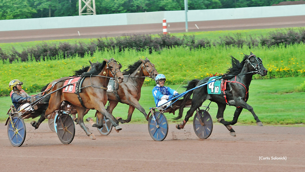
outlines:
M82 129L86 132L88 136L92 136L92 133L84 125L84 115L88 112L89 109L95 109L100 112L100 114L106 116L110 120L116 130L121 130L122 128L117 125L112 118L112 115L109 114L105 105L107 103L107 85L110 77L116 78L119 83L123 82L124 76L120 71L121 65L117 63L113 58L107 60L104 59L102 63L96 63L92 65L90 71L82 73L80 77L84 77L82 84L80 85L80 91L78 94L63 92L67 87L64 87L66 80L70 80L71 77L63 77L57 79L56 81L51 82L49 85L52 85L49 88L48 92L58 90L52 93L49 97L48 108L45 110L45 115L41 115L38 122L31 122L32 126L37 129L41 122L45 119L45 116L51 114L52 112L60 109L62 102L66 102L69 105L73 106L78 114L77 123L81 126ZM77 87L77 85L76 85ZM70 87L69 87L70 88ZM47 88L48 89L48 88ZM102 116L98 116L102 119ZM102 120L95 127L102 128ZM94 137L94 135L93 135Z

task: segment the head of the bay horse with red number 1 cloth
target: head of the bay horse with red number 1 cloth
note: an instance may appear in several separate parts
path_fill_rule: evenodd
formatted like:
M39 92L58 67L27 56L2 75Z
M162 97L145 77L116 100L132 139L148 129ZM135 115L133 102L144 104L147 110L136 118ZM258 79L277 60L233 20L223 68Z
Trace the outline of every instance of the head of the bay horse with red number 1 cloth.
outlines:
M124 76L121 73L120 69L122 68L122 65L114 60L114 58L110 58L109 60L105 59L107 64L107 71L109 72L109 76L113 77L115 80L118 80L119 83L123 82ZM106 72L107 73L107 72Z

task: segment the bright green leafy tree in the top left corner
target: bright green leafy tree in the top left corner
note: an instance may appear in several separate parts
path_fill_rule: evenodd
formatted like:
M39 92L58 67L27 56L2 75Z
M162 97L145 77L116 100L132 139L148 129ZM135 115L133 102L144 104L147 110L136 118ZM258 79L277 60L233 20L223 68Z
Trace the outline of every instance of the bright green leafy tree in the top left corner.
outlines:
M1 0L0 9L0 20L31 18L32 14L36 13L27 0Z

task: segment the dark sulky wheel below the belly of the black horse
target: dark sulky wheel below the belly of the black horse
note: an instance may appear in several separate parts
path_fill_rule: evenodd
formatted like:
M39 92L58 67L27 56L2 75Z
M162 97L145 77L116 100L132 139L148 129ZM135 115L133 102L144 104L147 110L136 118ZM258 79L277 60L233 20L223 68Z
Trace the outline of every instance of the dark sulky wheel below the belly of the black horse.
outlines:
M199 110L194 116L193 127L200 139L208 138L213 131L213 121L210 113L205 110Z

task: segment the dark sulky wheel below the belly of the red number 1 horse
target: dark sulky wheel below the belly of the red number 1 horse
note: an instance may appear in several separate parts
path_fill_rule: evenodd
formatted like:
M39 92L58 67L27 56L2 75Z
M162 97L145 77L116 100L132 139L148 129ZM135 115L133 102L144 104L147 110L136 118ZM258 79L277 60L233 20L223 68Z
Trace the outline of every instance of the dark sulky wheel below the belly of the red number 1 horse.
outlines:
M69 114L62 112L57 122L57 136L63 144L70 144L75 135L75 125ZM55 118L56 119L56 118Z

